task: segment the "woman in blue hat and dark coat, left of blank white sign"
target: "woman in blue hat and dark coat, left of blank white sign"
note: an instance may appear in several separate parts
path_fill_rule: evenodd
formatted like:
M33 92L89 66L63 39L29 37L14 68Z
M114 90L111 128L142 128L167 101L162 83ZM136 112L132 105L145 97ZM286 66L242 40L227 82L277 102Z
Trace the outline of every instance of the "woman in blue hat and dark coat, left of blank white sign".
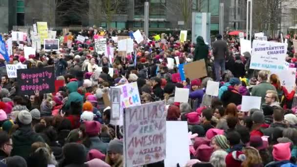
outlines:
M228 90L223 93L221 98L223 106L227 106L230 103L241 104L242 95L239 93L241 86L240 80L238 78L231 78L229 83L231 83L231 86L228 87Z

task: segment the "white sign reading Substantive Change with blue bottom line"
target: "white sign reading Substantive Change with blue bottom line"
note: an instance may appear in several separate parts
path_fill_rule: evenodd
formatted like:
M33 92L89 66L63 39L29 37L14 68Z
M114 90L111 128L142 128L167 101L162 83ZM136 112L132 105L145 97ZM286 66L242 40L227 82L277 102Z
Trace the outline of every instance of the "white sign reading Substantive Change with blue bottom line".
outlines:
M251 69L283 70L288 44L254 40Z

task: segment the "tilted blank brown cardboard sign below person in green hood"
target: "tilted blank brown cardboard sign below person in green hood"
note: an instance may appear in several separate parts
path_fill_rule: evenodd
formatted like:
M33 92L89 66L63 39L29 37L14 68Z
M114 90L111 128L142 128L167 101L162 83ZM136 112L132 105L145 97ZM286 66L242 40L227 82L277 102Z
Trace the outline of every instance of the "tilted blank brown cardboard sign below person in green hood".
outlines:
M186 77L189 78L190 80L207 76L204 59L185 64L184 71L185 71Z

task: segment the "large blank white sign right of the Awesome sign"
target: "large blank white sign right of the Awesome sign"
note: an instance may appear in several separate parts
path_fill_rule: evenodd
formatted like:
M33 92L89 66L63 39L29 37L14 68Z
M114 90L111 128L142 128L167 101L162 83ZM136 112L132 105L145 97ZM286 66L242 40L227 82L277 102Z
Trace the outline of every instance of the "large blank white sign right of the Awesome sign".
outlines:
M182 156L176 156L176 153ZM187 121L166 121L165 167L185 167L190 160Z

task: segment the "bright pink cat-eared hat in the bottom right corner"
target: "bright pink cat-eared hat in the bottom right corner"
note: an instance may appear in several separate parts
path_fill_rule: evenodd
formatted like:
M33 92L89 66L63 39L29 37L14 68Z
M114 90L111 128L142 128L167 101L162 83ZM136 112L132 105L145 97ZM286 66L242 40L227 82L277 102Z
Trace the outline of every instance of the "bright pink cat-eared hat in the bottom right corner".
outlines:
M272 155L276 161L290 160L291 158L291 143L279 143L273 146Z

